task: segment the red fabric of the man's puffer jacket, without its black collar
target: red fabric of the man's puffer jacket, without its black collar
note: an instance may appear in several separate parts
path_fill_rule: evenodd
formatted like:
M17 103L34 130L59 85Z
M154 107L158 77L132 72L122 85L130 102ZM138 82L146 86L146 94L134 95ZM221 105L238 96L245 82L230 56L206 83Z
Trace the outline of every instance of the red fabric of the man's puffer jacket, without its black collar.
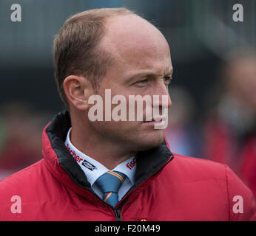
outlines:
M0 181L0 221L115 221L112 208L78 187L58 164L45 130L43 155L41 161ZM21 213L10 210L13 195L21 197ZM235 195L243 198L243 213L233 212ZM121 218L255 221L255 201L226 165L174 154L160 172L130 193Z

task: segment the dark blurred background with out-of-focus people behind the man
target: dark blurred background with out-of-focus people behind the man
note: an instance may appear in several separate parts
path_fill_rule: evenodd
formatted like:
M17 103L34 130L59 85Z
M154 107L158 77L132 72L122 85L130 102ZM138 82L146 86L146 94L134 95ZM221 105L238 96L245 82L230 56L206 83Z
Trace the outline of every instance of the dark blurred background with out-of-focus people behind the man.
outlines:
M243 21L233 19L238 3ZM0 178L41 159L42 130L64 109L54 35L70 15L100 7L135 10L169 42L172 152L228 164L256 195L256 0L1 0Z

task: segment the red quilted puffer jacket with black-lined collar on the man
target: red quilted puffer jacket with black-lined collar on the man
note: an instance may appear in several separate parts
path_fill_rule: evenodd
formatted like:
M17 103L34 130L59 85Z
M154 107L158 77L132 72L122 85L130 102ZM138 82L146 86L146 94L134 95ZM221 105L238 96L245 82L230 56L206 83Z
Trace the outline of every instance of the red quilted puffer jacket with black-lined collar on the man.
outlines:
M69 128L67 111L55 116L44 159L0 181L0 221L255 221L252 192L229 167L172 154L165 141L138 153L135 185L112 209L64 146Z

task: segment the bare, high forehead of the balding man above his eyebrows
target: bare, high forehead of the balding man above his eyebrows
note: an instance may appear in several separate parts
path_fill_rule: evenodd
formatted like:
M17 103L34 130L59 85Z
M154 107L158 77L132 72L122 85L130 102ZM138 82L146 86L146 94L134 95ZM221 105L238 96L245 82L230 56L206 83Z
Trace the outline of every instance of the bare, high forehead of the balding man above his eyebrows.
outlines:
M106 33L100 46L120 65L149 69L170 67L169 45L164 35L137 15L118 15L105 22Z

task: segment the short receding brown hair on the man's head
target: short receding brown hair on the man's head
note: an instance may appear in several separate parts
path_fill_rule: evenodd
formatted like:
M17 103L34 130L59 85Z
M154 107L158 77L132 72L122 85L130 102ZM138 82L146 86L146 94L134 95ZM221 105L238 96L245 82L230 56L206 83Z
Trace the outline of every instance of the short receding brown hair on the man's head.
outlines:
M53 63L55 82L64 104L68 101L64 92L64 79L70 74L83 74L94 89L106 74L113 58L97 45L104 35L104 20L113 15L135 14L127 8L101 8L75 14L65 21L55 35Z

